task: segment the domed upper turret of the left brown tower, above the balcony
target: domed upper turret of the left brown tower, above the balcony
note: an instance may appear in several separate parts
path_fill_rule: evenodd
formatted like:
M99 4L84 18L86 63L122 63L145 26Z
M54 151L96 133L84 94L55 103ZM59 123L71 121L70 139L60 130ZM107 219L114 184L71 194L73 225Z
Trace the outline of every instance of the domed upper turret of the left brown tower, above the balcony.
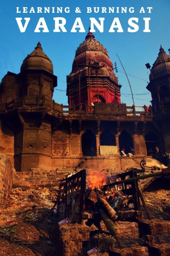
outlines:
M28 54L21 65L20 94L27 97L45 95L52 100L57 77L53 75L53 64L43 52L40 42L35 50ZM25 77L27 79L25 79Z

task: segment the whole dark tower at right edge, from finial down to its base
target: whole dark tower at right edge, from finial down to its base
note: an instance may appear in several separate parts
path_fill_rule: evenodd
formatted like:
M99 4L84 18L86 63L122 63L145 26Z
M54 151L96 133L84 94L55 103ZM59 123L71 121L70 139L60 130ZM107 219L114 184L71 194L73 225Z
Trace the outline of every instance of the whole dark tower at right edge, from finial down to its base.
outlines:
M149 76L147 89L152 95L153 124L162 151L170 152L170 56L162 46Z

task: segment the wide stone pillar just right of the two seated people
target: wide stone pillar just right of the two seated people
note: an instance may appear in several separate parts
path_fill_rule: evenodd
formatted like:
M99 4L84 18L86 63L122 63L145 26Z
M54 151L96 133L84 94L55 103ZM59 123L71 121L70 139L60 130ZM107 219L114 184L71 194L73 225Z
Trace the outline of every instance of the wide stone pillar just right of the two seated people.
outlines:
M133 143L134 143L134 150L135 156L137 155L146 155L146 143L144 135L134 134Z

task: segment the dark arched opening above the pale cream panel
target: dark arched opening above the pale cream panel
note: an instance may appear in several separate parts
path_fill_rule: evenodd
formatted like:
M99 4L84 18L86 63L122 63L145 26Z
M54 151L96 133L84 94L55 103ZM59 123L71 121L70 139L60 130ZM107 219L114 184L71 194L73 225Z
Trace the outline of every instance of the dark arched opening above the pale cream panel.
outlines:
M115 135L108 129L104 129L100 135L100 146L116 146Z

